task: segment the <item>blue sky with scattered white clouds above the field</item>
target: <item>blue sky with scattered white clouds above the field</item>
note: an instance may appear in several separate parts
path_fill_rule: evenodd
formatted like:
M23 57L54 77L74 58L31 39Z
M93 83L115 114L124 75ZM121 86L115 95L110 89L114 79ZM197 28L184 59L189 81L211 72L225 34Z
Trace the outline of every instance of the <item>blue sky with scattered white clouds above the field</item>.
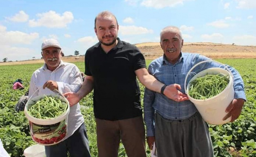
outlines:
M184 42L256 46L256 0L0 0L0 61L40 58L46 38L59 40L65 55L83 55L98 42L94 18L111 11L121 40L159 42L177 26Z

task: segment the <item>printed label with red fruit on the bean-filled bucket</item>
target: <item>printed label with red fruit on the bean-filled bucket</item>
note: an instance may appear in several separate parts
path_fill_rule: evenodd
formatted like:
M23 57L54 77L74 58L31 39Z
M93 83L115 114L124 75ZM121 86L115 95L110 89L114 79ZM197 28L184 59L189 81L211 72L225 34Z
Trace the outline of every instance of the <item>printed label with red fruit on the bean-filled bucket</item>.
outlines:
M29 121L32 139L43 145L57 144L66 136L66 120L56 124L39 125Z

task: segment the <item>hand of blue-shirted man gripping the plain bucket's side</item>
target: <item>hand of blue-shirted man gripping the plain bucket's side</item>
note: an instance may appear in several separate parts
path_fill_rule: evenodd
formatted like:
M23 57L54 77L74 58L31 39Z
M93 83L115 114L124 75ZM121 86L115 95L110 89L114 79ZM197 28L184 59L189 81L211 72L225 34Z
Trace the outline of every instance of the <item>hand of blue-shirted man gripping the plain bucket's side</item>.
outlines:
M229 106L226 108L226 112L228 114L222 120L226 120L230 116L231 116L230 122L234 122L234 120L238 119L244 103L245 103L245 100L243 99L232 100L232 102L230 102Z

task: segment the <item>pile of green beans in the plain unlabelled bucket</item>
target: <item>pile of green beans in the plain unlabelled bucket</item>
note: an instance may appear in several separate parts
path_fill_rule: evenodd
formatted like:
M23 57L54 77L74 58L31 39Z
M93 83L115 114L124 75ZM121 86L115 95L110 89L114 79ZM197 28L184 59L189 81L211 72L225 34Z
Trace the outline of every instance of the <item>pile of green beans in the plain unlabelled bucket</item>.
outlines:
M205 75L190 82L188 95L194 99L208 99L221 93L229 84L228 75Z

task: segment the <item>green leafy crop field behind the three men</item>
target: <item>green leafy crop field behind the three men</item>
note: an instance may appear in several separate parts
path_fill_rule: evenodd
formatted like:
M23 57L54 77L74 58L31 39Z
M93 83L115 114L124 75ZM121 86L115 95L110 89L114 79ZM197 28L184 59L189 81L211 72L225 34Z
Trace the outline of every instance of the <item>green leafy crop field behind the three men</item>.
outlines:
M216 157L256 157L256 60L255 59L223 59L219 62L236 68L244 82L247 95L240 117L232 123L219 126L209 125L210 135ZM150 60L147 60L147 65ZM84 62L75 62L80 71L84 71ZM29 89L30 77L42 64L25 64L0 66L0 139L5 150L11 157L22 157L28 146L35 144L32 141L28 121L24 112L16 112L15 104ZM16 79L24 81L24 90L13 90ZM141 87L143 99L144 87ZM90 151L92 157L97 157L96 128L93 115L93 94L90 93L80 101L84 115ZM150 151L147 148L148 157ZM119 148L119 157L125 157L124 146Z

